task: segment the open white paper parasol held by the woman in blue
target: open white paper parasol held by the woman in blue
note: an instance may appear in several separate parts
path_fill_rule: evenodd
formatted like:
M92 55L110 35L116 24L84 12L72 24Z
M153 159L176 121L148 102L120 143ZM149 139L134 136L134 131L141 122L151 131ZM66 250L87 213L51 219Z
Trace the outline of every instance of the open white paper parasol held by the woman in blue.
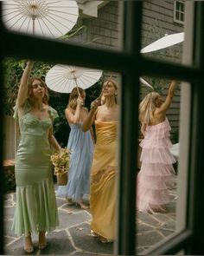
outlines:
M74 87L87 89L96 83L102 70L57 64L48 70L45 82L49 89L70 93Z

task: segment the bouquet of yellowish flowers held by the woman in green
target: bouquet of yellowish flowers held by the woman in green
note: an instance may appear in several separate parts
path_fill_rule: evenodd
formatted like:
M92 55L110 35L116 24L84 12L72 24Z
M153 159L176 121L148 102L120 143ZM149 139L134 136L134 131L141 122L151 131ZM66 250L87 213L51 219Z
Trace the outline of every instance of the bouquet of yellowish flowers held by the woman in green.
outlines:
M61 154L52 154L51 161L54 165L54 175L57 177L57 185L67 185L67 173L69 170L69 150L67 148L62 148Z

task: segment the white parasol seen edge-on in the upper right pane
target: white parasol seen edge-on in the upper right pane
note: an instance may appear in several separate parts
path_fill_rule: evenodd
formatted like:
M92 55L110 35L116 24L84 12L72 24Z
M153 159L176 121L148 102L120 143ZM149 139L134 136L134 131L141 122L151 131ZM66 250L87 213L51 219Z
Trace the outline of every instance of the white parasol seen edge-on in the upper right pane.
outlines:
M141 53L148 53L158 49L164 49L176 43L182 43L184 41L184 32L175 33L156 40L154 43L150 43L148 46L140 50Z

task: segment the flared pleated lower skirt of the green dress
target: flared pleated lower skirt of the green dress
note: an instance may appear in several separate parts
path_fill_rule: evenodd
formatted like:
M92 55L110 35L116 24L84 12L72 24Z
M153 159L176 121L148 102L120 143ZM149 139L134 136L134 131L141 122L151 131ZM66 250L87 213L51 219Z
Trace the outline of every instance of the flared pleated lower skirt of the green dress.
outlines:
M54 185L50 179L26 187L16 187L15 218L12 229L17 235L52 231L59 225Z

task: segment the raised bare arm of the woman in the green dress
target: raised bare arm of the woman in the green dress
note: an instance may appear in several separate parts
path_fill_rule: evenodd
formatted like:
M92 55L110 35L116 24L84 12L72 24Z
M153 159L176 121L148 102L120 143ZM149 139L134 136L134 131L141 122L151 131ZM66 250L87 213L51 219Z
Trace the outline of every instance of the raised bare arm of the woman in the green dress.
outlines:
M17 108L22 108L24 105L24 102L28 96L28 84L29 84L29 77L31 74L31 70L33 68L33 62L28 61L26 68L24 69L22 73L22 79L21 83L18 89L18 95L17 95L17 100L16 100L16 106Z

